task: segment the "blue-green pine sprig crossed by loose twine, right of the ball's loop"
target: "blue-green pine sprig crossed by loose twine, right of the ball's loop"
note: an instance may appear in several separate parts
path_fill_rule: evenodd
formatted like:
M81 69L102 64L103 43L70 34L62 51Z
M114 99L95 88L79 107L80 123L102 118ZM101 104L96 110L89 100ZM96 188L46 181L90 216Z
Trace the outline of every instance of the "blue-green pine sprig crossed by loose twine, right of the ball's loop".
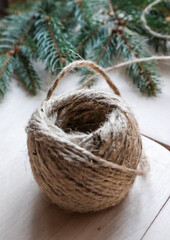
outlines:
M120 47L120 53L125 59L151 56L145 48L146 46L143 43L144 39L139 35L126 31L122 32L120 36L121 41L123 41ZM157 68L154 62L138 62L127 67L127 73L133 79L133 82L142 93L147 93L147 95L155 95L159 91L159 75L156 74L156 72Z

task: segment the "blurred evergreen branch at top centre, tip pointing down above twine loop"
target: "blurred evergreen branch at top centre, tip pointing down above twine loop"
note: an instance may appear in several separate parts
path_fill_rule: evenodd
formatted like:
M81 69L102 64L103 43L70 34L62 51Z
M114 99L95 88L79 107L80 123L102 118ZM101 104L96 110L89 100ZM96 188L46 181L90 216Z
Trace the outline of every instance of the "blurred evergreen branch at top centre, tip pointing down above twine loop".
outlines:
M71 36L73 44L84 57L86 45L98 33L101 25L104 23L100 14L104 1L99 0L97 4L95 0L81 0L77 2L72 0L68 3L69 8L72 6L74 17L69 19L69 21L67 20L66 25L68 29L75 29L72 35L70 31L68 31L68 34Z

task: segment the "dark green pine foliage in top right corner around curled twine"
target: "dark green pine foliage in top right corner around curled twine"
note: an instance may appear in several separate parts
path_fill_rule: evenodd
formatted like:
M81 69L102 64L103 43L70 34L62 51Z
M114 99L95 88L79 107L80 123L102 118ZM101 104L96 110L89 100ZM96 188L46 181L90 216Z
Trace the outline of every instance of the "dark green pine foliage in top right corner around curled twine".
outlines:
M161 39L155 38L149 34L149 32L144 28L141 15L143 10L148 6L149 3L153 1L146 0L131 0L119 1L114 0L113 5L117 8L119 18L126 21L126 27L143 35L149 39L149 45L155 47L156 51L158 48L160 51L168 52L168 41L163 41ZM157 6L146 15L147 24L156 32L170 34L170 22L167 21L170 15L170 7L168 1L161 1Z

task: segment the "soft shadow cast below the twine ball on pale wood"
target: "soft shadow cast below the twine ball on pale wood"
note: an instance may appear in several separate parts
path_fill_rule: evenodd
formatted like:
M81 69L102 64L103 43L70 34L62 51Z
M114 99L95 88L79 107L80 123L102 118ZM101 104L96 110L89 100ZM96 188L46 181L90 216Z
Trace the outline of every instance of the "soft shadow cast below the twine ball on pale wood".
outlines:
M98 213L70 213L50 204L39 193L35 201L29 240L117 239L124 225L128 224L128 204L127 198L118 206ZM135 214L138 214L136 209ZM130 226L126 226L126 229L127 227Z

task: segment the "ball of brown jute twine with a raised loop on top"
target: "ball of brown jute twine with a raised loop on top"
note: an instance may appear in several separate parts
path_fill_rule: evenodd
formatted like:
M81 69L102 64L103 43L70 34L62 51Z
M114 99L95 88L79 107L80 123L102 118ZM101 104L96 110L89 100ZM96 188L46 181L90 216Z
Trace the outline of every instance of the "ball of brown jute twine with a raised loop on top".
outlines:
M80 89L51 98L77 66L100 73L114 93ZM59 207L98 211L125 198L148 165L135 117L104 70L89 61L65 67L27 127L31 168L42 191Z

